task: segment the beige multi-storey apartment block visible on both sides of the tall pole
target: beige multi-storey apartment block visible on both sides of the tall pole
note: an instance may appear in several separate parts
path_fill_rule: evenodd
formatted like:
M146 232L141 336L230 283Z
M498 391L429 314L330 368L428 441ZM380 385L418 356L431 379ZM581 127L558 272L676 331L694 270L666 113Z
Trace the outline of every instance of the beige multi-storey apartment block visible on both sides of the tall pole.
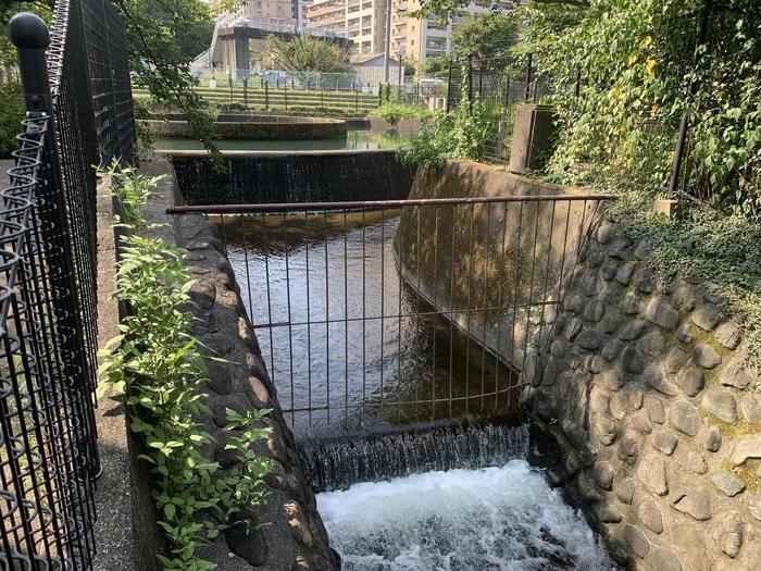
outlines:
M313 0L307 11L308 26L328 27L346 34L354 41L358 54L386 51L386 1L387 0ZM469 15L486 12L489 8L470 4L454 14L447 24L435 16L412 18L410 13L421 5L420 0L390 0L391 37L389 54L399 53L413 58L419 63L435 55L451 52L451 34ZM509 2L496 2L508 7Z

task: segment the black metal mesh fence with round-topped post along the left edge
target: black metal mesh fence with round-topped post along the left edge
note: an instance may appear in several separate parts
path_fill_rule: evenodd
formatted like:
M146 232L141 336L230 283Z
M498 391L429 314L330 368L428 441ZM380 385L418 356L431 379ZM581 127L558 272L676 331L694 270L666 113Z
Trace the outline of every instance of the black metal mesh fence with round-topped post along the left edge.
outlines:
M3 569L88 569L95 551L92 482L100 464L92 411L97 245L91 165L111 157L128 159L134 129L129 99L121 120L96 129L96 110L111 113L117 98L101 102L90 89L88 61L102 46L86 36L83 8L102 11L104 3L59 1L50 33L32 14L9 25L27 119L13 153L10 187L0 191ZM98 25L113 22L101 18ZM109 32L121 34L124 44L123 26ZM121 63L116 72L126 71L126 61Z

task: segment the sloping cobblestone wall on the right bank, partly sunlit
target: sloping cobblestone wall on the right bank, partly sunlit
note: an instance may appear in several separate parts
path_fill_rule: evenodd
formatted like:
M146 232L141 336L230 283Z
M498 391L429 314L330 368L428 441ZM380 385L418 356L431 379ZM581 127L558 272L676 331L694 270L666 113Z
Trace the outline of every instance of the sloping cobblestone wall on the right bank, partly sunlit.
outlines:
M562 443L552 475L619 562L759 569L759 377L720 300L659 283L648 255L599 224L522 398Z

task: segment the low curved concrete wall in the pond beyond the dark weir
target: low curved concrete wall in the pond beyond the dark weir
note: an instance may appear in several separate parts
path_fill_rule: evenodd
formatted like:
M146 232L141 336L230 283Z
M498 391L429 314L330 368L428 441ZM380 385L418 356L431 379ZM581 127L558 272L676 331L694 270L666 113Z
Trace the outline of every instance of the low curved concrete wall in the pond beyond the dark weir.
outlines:
M196 138L183 115L167 115L166 120L142 120L157 137ZM346 137L346 121L289 115L244 115L224 113L214 121L216 135L223 139L303 140Z

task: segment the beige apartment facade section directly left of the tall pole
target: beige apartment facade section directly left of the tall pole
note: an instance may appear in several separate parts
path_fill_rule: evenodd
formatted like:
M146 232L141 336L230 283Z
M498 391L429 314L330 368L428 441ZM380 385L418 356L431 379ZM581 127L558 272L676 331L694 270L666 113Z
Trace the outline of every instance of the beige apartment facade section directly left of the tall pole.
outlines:
M355 53L380 53L386 44L386 0L313 0L308 27L325 27L350 38Z

